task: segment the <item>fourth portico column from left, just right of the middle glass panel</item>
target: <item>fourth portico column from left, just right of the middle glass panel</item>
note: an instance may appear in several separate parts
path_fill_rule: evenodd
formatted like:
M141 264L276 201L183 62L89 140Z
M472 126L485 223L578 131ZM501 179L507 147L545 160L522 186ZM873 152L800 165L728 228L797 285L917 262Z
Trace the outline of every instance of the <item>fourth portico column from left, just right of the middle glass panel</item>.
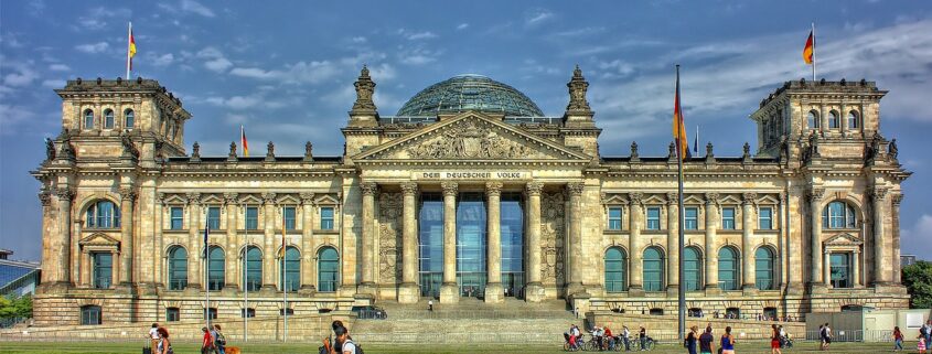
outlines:
M486 224L486 277L485 302L497 303L505 300L502 288L502 182L486 182L485 197L489 214Z

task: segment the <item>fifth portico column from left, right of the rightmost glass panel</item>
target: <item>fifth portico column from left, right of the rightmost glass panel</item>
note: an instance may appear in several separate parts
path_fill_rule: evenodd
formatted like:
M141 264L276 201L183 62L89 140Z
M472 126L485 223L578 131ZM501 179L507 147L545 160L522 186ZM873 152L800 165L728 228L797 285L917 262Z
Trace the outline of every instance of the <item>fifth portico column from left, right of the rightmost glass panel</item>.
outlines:
M527 183L527 237L524 248L526 249L525 270L527 287L524 298L528 302L540 302L545 298L544 285L540 282L540 192L544 183Z

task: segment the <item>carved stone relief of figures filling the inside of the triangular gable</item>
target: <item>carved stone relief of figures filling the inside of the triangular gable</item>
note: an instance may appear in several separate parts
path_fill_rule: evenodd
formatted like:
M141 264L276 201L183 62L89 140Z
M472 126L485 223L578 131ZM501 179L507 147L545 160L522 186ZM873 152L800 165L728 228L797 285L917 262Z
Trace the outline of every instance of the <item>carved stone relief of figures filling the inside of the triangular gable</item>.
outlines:
M437 137L408 148L414 159L540 159L536 149L504 138L490 125L463 119Z

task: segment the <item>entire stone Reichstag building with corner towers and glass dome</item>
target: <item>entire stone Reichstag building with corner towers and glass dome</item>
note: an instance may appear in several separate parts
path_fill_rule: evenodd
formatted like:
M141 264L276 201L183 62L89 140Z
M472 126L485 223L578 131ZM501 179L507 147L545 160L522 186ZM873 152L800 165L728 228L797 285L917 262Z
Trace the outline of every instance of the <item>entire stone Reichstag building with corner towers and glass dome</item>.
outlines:
M910 172L881 132L887 92L874 82L786 82L748 110L752 146L689 158L684 245L673 146L600 150L578 67L558 116L479 75L427 87L395 116L379 114L365 67L354 86L341 155L311 142L278 155L269 142L245 157L237 141L202 157L184 140L192 115L158 82L68 81L56 90L62 133L31 172L43 215L36 322L468 298L672 314L682 282L704 313L908 307Z

